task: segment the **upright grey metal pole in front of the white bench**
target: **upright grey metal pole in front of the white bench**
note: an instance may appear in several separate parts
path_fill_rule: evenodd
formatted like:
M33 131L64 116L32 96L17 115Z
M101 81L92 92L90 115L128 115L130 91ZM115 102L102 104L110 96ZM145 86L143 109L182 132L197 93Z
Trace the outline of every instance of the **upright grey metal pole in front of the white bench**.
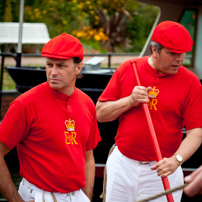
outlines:
M16 56L16 66L17 67L21 67L23 15L24 15L24 0L21 0L20 1L19 32L18 32L18 48L17 48L17 56Z

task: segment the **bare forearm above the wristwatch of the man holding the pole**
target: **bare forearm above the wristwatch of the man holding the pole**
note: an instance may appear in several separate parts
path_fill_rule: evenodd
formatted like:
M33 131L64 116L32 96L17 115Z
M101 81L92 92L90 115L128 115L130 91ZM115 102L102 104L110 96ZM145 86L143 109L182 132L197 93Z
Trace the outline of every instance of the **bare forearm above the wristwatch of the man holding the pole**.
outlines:
M202 142L202 128L188 130L186 137L176 151L183 158L183 162L188 160L200 147Z

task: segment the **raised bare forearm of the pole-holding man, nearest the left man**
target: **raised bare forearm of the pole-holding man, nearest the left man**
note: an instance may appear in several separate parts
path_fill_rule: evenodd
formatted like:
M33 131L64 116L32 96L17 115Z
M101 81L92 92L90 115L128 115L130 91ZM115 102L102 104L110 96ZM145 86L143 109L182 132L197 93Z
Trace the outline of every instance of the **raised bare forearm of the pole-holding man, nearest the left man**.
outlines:
M97 120L99 122L110 122L117 119L121 114L132 107L129 97L117 101L100 102L96 104Z

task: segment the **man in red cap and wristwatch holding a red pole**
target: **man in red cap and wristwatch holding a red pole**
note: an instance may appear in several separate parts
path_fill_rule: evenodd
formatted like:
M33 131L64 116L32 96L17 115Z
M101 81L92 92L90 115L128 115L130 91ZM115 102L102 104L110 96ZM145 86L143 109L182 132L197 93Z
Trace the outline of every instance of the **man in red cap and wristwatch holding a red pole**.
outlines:
M126 61L98 98L99 122L119 118L116 146L106 164L106 202L137 201L162 192L161 177L168 177L171 188L184 183L181 164L202 141L201 84L182 66L192 44L182 25L161 22L153 32L151 55L135 61L142 86L131 61ZM159 162L142 103L148 103L163 157ZM187 135L182 141L183 127ZM181 196L182 190L174 192L174 201L180 202Z

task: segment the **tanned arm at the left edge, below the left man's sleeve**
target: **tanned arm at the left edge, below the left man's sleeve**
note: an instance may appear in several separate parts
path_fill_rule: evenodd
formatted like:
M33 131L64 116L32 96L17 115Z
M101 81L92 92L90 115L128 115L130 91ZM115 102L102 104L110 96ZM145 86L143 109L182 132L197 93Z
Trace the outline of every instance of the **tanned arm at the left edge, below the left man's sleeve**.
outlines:
M0 158L0 165L0 191L9 202L22 202L3 157Z

